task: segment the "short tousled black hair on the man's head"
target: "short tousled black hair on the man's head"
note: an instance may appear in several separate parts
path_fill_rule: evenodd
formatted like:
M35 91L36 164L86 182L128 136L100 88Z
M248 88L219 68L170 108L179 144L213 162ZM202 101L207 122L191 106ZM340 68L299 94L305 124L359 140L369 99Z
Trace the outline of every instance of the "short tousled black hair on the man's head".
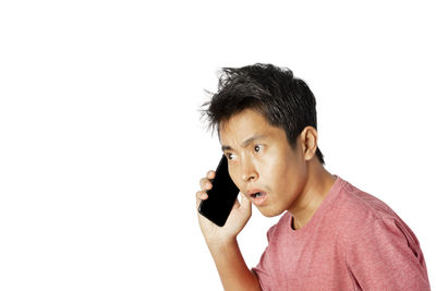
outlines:
M271 126L286 132L293 149L305 126L316 129L316 100L308 86L294 77L291 70L272 64L223 68L218 92L211 94L203 108L209 129L217 129L218 134L221 122L245 109L256 110ZM319 148L316 149L316 156L324 165Z

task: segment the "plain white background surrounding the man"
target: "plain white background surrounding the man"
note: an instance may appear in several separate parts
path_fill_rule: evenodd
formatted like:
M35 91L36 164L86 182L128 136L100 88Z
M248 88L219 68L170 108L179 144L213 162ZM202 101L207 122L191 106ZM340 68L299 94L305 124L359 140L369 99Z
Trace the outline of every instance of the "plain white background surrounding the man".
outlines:
M0 289L221 290L196 220L198 180L221 155L199 106L221 66L255 62L307 82L327 170L400 215L435 287L435 12L2 1ZM253 213L250 267L277 221Z

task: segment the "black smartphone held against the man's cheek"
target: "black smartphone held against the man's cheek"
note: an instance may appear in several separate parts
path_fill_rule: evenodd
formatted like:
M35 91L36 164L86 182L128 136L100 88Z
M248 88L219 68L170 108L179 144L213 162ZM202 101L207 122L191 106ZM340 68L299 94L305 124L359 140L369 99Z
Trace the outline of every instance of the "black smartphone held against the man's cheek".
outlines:
M219 161L215 179L211 180L211 189L206 193L208 198L202 201L198 213L215 225L225 226L239 194L238 186L230 178L229 166L225 155Z

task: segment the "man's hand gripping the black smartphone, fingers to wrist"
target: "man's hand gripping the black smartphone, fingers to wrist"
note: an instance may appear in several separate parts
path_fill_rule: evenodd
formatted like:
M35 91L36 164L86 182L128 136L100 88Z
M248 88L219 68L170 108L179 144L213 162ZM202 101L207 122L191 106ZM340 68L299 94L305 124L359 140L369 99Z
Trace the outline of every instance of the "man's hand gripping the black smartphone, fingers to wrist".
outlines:
M202 201L207 199L206 191L213 187L210 180L215 171L208 171L206 178L199 180L201 191L196 193L197 209ZM241 193L240 193L241 194ZM241 195L241 203L237 199L223 227L218 227L203 215L197 213L199 228L208 245L228 243L234 240L245 227L252 216L252 203L245 195Z

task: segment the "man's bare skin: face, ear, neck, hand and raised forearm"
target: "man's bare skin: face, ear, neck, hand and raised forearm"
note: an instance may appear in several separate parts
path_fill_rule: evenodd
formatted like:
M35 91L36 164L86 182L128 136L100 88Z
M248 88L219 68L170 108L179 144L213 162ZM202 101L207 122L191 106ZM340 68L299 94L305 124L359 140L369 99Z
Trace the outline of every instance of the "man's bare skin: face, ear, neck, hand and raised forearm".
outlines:
M237 235L252 214L249 191L266 192L267 198L256 206L266 217L289 210L293 228L303 228L327 196L335 177L319 162L315 153L317 131L306 126L291 148L282 129L269 125L257 111L246 109L220 123L220 143L229 161L229 173L240 189L226 225L220 228L198 215L198 222L216 263L226 290L259 290L257 278L246 267L237 243ZM211 189L209 171L199 181L197 207Z

